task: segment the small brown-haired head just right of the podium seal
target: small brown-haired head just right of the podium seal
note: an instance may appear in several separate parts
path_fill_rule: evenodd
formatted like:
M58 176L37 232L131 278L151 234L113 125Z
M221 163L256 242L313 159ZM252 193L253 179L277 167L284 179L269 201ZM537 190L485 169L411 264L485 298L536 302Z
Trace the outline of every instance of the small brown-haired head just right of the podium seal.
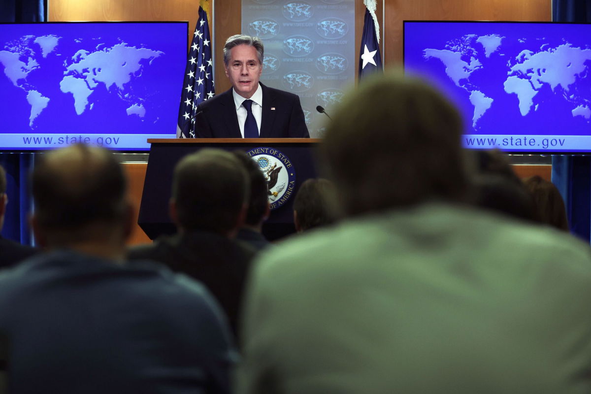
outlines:
M304 181L294 199L294 224L298 232L336 221L335 185L323 178Z

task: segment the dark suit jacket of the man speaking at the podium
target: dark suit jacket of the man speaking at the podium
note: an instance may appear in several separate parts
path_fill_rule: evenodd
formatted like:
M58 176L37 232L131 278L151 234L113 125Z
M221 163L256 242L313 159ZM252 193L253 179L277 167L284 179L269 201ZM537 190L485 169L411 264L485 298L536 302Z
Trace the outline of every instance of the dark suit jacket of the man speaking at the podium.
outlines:
M261 83L260 138L309 138L300 97ZM272 109L274 108L274 109ZM201 112L201 113L199 113ZM232 89L197 106L197 138L242 138Z

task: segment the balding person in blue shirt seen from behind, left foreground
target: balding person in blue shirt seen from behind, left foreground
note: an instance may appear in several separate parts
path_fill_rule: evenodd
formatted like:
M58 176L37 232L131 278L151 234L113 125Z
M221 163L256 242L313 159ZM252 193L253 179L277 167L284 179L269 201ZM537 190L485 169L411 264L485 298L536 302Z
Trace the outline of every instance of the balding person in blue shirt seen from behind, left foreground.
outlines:
M14 393L228 393L236 352L199 283L126 263L132 224L111 152L73 145L33 170L32 224L49 251L0 275Z

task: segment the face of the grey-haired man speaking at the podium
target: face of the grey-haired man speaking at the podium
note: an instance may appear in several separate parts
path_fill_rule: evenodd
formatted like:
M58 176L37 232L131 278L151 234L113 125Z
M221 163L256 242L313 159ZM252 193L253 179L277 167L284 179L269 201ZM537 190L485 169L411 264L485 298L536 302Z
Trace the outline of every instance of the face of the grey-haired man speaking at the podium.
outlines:
M251 45L236 45L230 49L228 66L224 65L235 92L245 99L251 98L256 92L262 73L262 64L256 54L255 47Z

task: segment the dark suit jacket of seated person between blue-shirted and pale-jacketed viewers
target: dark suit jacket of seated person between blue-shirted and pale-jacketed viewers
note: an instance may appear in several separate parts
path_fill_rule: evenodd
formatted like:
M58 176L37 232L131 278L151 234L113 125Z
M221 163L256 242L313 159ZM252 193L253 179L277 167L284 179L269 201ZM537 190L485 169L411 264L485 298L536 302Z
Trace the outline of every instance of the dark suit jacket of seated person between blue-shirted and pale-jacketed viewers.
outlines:
M202 282L228 315L230 327L238 334L242 293L255 250L234 240L209 232L163 236L151 245L129 250L129 260L164 263Z

